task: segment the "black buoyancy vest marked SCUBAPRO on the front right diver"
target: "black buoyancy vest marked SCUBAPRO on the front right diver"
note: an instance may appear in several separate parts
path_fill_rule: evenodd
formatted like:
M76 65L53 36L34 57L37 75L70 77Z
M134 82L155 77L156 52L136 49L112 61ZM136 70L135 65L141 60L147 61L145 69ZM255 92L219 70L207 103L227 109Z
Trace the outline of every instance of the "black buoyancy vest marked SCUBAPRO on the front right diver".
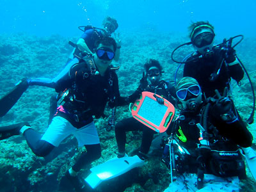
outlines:
M219 134L214 125L203 123L205 121L205 119L203 120L204 117L206 122L209 123L207 119L210 114L209 110L205 110L206 107L211 107L211 104L202 106L201 113L196 118L187 118L184 115L184 120L179 120L176 126L178 138L182 134L187 141L184 142L181 138L177 138L177 140L179 140L180 145L186 147L190 152L189 156L186 155L186 158L190 160L184 157L180 158L184 161L180 170L188 173L191 170L195 172L195 168L193 169L191 166L197 166L203 174L210 173L218 177L239 176L240 179L244 179L246 177L244 161L236 143ZM205 132L202 133L203 137L200 136L200 131L197 128L198 124L205 129ZM201 145L200 141L203 139L207 140L207 146ZM177 164L182 163L177 162ZM184 167L189 168L189 170Z

